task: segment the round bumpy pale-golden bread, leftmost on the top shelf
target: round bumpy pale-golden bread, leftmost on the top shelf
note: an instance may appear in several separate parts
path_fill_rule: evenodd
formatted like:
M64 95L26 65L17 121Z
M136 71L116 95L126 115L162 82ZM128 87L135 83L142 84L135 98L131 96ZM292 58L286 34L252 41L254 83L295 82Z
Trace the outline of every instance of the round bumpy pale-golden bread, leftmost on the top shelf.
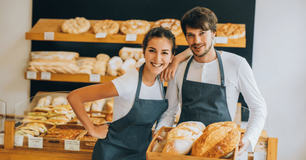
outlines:
M70 34L85 33L90 28L90 22L84 17L66 20L62 24L62 31Z

